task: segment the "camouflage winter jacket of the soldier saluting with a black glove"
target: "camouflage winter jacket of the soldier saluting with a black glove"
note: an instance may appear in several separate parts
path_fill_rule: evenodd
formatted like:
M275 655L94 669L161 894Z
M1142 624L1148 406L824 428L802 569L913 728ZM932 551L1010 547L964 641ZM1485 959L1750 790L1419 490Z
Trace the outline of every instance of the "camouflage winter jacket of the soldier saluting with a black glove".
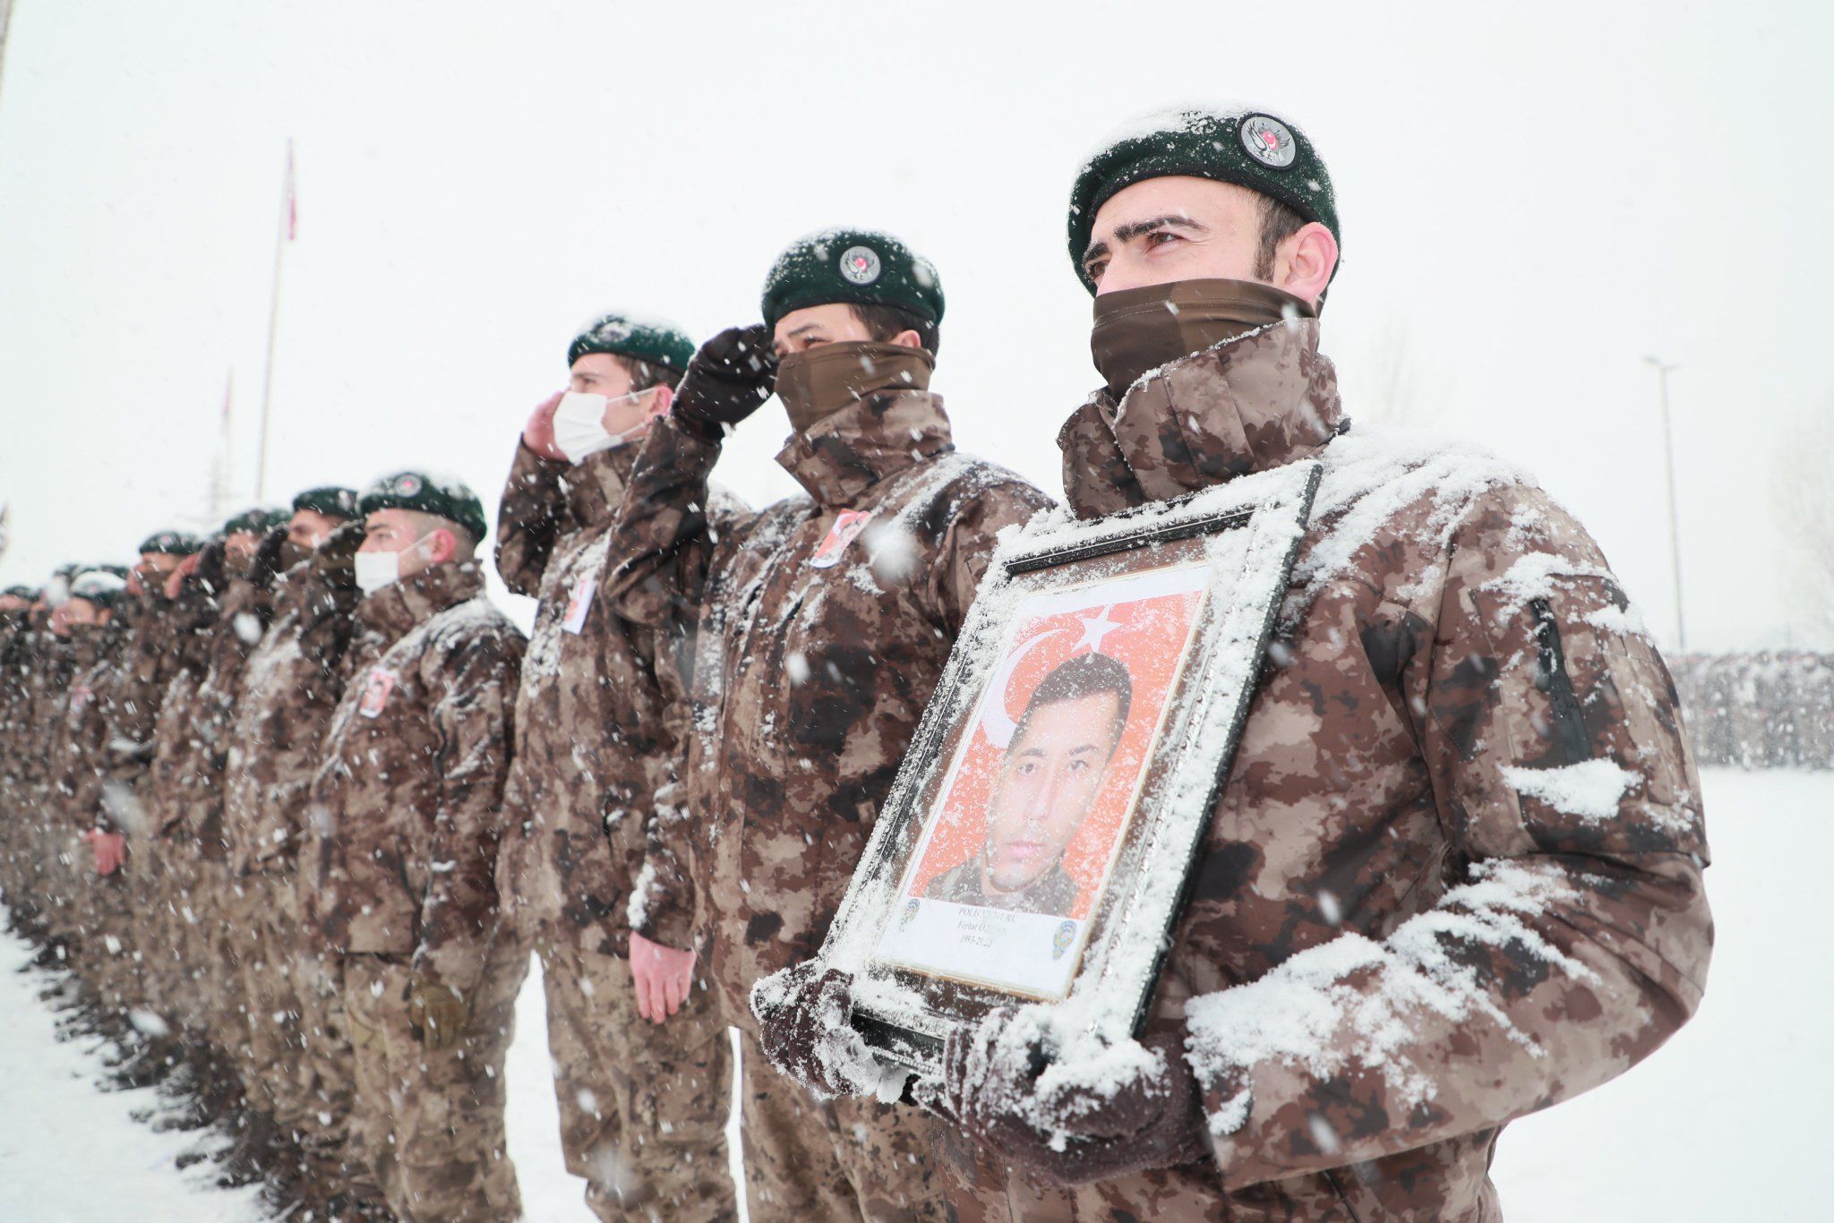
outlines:
M607 589L625 616L701 625L688 761L658 821L673 854L646 864L633 919L669 941L697 898L710 975L752 1025L752 983L812 955L840 908L994 535L1051 501L957 453L941 398L917 391L794 435L778 462L809 499L715 534L701 506L719 449L651 431Z

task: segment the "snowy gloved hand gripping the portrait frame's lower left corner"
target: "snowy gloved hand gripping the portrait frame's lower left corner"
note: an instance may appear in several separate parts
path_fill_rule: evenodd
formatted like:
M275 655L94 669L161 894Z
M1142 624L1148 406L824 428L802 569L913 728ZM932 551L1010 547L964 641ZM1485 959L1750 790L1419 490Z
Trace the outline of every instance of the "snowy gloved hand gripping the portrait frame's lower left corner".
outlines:
M891 1093L908 1074L873 1056L853 1029L853 977L820 961L805 961L752 986L752 1014L770 1065L816 1098Z

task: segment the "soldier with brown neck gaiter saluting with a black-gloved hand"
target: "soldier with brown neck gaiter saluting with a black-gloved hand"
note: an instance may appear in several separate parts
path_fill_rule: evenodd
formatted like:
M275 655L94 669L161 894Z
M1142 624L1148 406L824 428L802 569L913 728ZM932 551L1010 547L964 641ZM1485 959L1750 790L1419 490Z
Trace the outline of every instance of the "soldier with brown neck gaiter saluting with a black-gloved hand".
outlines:
M675 814L660 821L673 853L646 867L633 946L686 950L699 902L708 972L745 1036L754 1219L941 1217L921 1117L820 1102L774 1074L746 997L820 946L994 535L1049 499L954 449L926 389L941 286L895 238L798 242L763 312L767 326L724 332L695 356L607 556L627 618L699 620L693 733ZM772 383L794 429L778 462L809 495L710 530L723 429Z

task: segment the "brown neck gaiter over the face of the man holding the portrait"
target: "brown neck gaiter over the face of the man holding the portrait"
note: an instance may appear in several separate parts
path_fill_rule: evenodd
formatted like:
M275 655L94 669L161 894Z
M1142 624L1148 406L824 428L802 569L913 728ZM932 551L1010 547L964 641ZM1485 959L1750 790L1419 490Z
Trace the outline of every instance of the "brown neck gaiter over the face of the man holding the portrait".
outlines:
M1095 299L1089 352L1117 400L1141 374L1287 317L1317 312L1300 297L1254 281L1174 281Z

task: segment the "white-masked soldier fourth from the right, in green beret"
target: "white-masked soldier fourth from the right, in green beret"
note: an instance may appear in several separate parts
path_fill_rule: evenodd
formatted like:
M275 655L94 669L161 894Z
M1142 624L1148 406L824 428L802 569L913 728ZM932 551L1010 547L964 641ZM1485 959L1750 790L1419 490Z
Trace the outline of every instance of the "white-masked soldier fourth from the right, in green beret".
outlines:
M503 1058L528 948L499 939L497 847L523 634L484 598L462 484L372 484L345 691L312 779L306 920L343 957L352 1129L403 1219L521 1210Z

